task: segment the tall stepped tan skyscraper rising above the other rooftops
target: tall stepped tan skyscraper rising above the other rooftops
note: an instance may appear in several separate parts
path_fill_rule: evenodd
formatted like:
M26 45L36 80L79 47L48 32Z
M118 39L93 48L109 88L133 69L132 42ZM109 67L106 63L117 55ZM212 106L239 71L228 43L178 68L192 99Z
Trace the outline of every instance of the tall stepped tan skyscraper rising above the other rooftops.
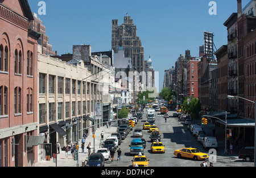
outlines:
M125 16L123 24L118 26L118 20L112 20L112 49L118 53L123 47L125 57L131 58L131 65L140 73L144 71L144 47L137 36L137 27L130 16Z

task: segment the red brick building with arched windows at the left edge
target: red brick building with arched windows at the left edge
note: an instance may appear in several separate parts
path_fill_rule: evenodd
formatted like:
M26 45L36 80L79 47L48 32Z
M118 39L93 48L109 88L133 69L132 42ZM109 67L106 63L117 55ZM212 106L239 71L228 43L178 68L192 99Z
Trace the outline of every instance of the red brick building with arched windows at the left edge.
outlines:
M0 0L0 167L31 166L37 147L37 61L40 34L27 0Z

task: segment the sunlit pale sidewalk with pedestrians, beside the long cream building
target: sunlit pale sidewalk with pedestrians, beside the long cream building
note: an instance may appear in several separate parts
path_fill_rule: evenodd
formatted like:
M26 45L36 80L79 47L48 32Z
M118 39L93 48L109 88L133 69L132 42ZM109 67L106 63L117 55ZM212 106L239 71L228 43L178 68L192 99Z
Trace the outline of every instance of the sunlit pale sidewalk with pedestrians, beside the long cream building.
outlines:
M104 138L107 138L113 132L117 132L117 126L115 123L111 125L111 127L107 128L106 126L102 126L101 128L97 128L95 131L95 151L100 148L100 139L101 132L104 132ZM85 149L84 153L82 153L81 149L81 139L79 139L79 166L82 166L82 161L88 158L88 149L86 149L88 143L90 142L91 146L93 146L93 135L88 135L85 140ZM91 152L93 149L91 149ZM76 167L77 160L72 159L72 154L68 152L68 159L65 158L65 151L60 150L60 154L57 154L57 167ZM43 161L35 163L35 167L56 167L56 163L53 163L53 158L49 161Z

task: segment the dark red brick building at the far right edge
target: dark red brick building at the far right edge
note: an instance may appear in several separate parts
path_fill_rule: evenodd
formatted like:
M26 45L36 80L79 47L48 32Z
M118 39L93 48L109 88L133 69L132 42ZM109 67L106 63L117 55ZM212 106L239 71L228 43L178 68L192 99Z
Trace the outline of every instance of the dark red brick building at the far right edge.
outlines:
M256 17L238 18L238 96L255 101L256 96ZM239 99L241 115L255 118L255 105Z

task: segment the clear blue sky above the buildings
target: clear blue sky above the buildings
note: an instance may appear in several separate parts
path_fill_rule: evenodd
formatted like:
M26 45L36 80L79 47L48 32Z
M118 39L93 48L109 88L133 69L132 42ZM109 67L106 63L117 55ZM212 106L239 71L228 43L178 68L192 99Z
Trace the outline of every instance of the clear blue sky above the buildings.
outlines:
M40 0L28 0L32 12L38 14ZM112 19L123 23L126 12L137 26L144 46L144 60L151 56L159 71L162 90L164 70L191 50L199 56L204 44L204 31L214 32L216 48L227 44L223 23L237 12L236 0L216 0L217 15L209 15L210 0L44 0L46 15L40 19L46 26L49 44L58 54L72 53L73 45L89 44L92 52L111 49ZM242 0L244 7L249 0Z

